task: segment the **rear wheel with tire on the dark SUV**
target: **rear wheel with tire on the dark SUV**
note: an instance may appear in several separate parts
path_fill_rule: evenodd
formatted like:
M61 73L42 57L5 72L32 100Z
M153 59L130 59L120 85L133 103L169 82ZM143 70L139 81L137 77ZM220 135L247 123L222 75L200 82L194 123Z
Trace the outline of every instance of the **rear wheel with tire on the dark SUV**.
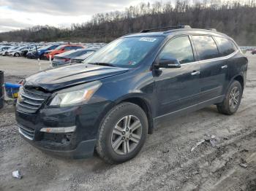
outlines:
M236 95L235 95L236 94ZM240 82L234 80L227 90L224 101L217 104L217 109L222 114L234 114L236 113L243 95L243 89Z

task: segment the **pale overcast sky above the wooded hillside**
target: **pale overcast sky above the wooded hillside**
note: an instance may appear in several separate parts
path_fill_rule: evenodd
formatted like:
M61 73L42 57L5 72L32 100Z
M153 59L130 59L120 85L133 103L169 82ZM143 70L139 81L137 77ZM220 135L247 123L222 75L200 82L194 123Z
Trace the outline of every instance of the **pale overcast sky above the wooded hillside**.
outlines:
M37 25L67 27L100 12L154 0L0 0L0 32Z

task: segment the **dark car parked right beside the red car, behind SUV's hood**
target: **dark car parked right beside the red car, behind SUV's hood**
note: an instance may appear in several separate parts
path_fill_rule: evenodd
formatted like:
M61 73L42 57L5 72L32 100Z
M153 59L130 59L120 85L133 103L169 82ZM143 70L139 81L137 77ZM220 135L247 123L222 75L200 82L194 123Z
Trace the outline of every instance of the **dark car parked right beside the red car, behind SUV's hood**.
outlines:
M63 52L59 55L55 55L53 58L53 67L56 66L63 66L64 64L67 63L72 63L72 58L81 56L81 55L86 55L89 52L95 52L97 49L78 49L78 50L69 50L67 52ZM87 56L88 57L88 56ZM84 59L83 59L84 60Z

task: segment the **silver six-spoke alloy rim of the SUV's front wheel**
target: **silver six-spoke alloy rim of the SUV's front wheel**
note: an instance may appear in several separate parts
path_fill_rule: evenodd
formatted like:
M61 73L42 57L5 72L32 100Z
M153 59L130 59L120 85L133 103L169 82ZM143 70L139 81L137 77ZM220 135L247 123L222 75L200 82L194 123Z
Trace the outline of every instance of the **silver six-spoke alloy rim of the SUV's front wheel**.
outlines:
M113 128L111 146L118 155L127 155L138 146L141 135L142 124L138 117L127 115Z

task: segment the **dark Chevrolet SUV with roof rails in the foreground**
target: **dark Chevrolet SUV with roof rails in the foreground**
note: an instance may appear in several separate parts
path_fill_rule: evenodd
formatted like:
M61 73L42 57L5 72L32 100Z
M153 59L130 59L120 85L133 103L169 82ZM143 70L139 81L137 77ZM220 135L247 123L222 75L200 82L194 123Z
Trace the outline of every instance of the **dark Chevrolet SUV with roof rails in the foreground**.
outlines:
M217 31L179 26L123 36L82 64L28 77L18 129L46 152L80 158L96 150L121 163L162 120L211 104L235 113L247 63L236 42Z

